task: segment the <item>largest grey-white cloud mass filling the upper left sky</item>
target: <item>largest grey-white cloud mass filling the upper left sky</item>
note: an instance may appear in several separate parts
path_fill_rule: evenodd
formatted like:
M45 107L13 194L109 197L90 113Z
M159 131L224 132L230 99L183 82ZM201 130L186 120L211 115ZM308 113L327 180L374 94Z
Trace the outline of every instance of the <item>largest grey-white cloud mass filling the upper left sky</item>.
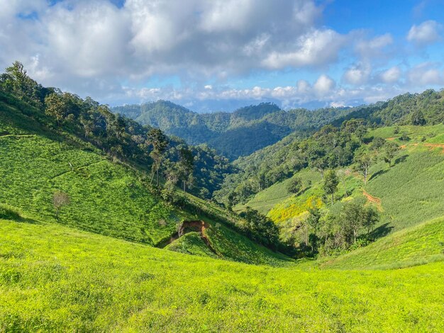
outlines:
M119 8L106 0L0 0L0 8L0 65L33 63L40 76L48 73L44 84L62 76L226 79L321 64L339 47L333 30L316 30L321 7L314 0L126 0Z

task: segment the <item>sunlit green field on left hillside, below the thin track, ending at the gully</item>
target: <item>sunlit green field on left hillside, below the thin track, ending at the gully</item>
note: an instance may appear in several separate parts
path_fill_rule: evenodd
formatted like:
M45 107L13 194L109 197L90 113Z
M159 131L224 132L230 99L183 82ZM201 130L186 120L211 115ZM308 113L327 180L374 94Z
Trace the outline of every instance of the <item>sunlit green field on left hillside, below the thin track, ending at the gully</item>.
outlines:
M56 190L71 198L60 223L113 237L157 244L185 218L152 196L135 172L94 152L40 135L7 136L0 137L0 156L0 203L38 218L56 222Z

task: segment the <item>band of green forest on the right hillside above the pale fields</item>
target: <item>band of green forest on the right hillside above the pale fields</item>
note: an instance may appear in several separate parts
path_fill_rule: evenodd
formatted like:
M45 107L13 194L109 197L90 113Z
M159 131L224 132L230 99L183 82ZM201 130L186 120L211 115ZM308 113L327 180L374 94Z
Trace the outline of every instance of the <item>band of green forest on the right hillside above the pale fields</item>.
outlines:
M370 128L379 128L390 125L435 125L444 122L444 90L424 91L422 94L404 94L396 96L387 102L379 102L370 106L361 106L349 110L348 115L332 120L332 126L317 132L310 139L304 140L297 132L288 135L283 140L260 149L248 157L242 157L234 162L240 170L228 175L223 189L216 193L219 201L227 201L228 196L234 202L245 201L264 188L272 186L292 176L296 171L311 164L319 164L314 168L328 169L338 166L338 159L346 158L351 162L353 156L339 157L341 149L349 154L350 149L362 145L362 136ZM348 123L348 120L350 122ZM347 128L348 127L348 128ZM338 130L340 130L338 132ZM325 133L323 133L325 132ZM333 133L331 133L333 132ZM348 147L339 147L338 132L340 135L355 133L355 141L348 142ZM401 136L402 131L398 130ZM330 137L327 142L318 147L319 137ZM319 148L319 149L318 149ZM341 150L341 152L339 152ZM310 157L309 154L312 154ZM318 157L315 155L319 154ZM331 154L330 157L327 155ZM231 195L230 195L231 193ZM235 199L237 198L237 199Z

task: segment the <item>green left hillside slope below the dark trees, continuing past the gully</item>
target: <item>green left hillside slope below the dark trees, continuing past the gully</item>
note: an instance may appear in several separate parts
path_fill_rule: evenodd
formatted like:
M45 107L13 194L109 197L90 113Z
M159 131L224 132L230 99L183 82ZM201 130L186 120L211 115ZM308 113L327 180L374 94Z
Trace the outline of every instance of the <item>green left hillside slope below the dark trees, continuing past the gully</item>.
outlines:
M0 206L10 206L35 220L150 245L170 239L181 221L206 219L168 205L150 191L145 174L109 161L67 132L56 135L40 124L39 117L46 116L16 98L0 100ZM60 210L59 220L52 205L57 190L67 193L71 201ZM210 206L192 195L187 198L191 205ZM231 239L223 242L226 235ZM180 249L194 253L189 237L179 241ZM279 264L287 259L228 227L211 237L221 243L223 259L254 264ZM196 254L213 255L209 249L201 250Z

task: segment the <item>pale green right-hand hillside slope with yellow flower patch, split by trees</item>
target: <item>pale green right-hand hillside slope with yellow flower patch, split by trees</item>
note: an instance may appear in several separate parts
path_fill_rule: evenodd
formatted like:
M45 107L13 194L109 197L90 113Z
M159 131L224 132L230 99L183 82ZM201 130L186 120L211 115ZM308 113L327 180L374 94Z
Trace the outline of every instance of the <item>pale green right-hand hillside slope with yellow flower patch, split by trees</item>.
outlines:
M398 134L394 127L378 128L367 133L367 137L383 137L393 140L403 147L396 164L389 168L386 163L378 162L370 169L370 180L365 186L362 176L349 172L345 178L348 192L353 196L365 190L380 199L382 220L391 231L416 225L425 220L444 215L444 125L401 126ZM410 137L401 141L402 132ZM293 218L306 210L307 201L323 195L321 177L316 171L304 169L295 176L301 177L303 184L308 179L312 184L298 196L289 196L287 182L274 184L265 191L257 193L245 205L267 213L275 222ZM345 194L342 182L338 185L336 198Z

